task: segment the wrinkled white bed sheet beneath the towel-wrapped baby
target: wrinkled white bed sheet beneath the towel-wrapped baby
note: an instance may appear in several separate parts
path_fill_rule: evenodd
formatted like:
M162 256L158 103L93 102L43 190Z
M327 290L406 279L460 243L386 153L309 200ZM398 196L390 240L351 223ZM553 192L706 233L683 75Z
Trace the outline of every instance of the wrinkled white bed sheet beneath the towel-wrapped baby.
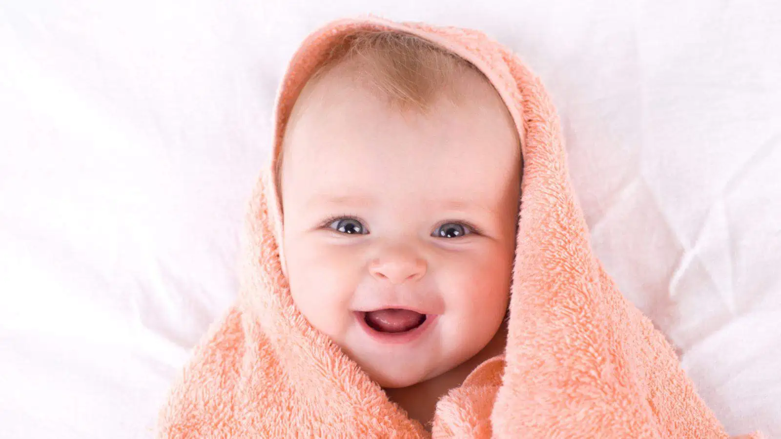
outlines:
M543 78L594 248L732 434L781 437L777 2L0 4L2 437L151 437L237 291L292 52L476 27Z

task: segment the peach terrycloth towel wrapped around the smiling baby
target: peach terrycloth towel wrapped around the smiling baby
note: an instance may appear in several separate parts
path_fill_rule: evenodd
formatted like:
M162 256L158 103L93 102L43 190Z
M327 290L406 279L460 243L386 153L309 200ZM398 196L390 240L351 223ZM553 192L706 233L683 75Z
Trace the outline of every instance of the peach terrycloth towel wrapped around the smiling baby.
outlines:
M281 253L273 184L280 136L319 59L359 29L409 32L473 62L521 139L505 355L440 399L432 434L298 312ZM540 80L507 48L476 30L371 14L337 20L305 39L276 104L273 154L248 203L239 297L173 386L159 437L728 437L665 337L594 257L558 116Z

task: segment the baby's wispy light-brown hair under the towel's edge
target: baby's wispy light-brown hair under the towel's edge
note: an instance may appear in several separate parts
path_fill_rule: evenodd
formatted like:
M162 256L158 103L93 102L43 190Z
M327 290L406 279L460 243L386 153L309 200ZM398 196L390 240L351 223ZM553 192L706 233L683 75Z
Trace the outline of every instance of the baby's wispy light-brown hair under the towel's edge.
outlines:
M356 80L387 98L391 107L424 115L440 95L453 102L461 100L457 84L465 71L484 76L472 62L399 30L360 30L346 35L331 48L307 83L321 80L337 66L347 66ZM294 116L291 114L291 119ZM280 148L276 156L276 187L281 187L283 151Z

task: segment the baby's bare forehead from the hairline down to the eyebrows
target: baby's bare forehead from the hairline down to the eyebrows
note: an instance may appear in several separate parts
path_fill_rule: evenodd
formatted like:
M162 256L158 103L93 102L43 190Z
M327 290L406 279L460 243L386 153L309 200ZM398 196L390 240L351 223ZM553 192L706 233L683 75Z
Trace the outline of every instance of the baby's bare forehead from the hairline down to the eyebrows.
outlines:
M464 76L473 85L470 98L443 92L428 112L402 111L340 70L307 84L287 126L284 174L336 194L380 181L402 191L485 198L519 184L512 116L480 74ZM383 186L375 192L382 196Z

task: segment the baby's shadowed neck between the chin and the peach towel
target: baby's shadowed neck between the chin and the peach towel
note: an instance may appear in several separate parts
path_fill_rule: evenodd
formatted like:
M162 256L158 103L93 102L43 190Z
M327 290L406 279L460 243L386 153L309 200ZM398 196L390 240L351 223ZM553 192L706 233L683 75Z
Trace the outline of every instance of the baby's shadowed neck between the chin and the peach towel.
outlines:
M386 388L385 393L392 402L405 409L410 419L415 419L431 430L431 421L437 410L437 402L452 388L460 386L469 373L480 365L481 362L501 355L507 345L507 322L503 322L497 330L494 338L488 342L482 351L477 352L471 359L448 372L442 373L430 380L422 381L408 387Z

